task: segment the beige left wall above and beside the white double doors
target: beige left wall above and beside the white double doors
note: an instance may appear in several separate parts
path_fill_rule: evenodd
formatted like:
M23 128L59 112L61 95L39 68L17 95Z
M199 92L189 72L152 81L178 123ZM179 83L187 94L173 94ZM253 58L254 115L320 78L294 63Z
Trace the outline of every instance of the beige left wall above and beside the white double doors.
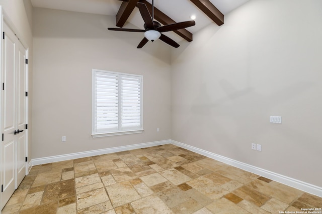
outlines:
M33 39L32 39L32 5L30 0L0 0L0 5L7 15L10 27L13 28L23 45L29 50L29 92L32 91L32 52L33 52ZM31 131L32 131L32 93L29 93L29 154L31 157ZM29 158L30 160L31 158Z

